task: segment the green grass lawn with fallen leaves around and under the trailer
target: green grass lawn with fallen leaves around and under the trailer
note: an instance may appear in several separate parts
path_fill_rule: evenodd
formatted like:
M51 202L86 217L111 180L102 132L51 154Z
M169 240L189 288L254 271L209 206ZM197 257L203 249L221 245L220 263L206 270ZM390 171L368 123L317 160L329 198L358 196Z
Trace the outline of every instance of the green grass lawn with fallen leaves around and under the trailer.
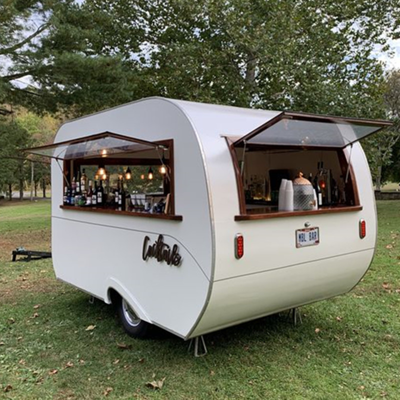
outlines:
M377 208L376 255L353 291L301 307L296 327L280 314L207 334L194 358L175 336L125 335L51 259L10 262L16 246L49 249L50 207L0 205L0 398L400 399L400 201Z

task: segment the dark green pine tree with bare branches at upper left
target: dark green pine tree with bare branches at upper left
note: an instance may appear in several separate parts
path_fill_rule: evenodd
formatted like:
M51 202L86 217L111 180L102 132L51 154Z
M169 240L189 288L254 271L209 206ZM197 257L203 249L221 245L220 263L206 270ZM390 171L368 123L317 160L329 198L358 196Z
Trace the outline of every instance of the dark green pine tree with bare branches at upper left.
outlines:
M102 34L114 25L106 12L73 0L1 2L0 103L82 113L132 99L139 87L134 63L121 62ZM130 49L138 40L130 39ZM21 88L22 78L31 85Z

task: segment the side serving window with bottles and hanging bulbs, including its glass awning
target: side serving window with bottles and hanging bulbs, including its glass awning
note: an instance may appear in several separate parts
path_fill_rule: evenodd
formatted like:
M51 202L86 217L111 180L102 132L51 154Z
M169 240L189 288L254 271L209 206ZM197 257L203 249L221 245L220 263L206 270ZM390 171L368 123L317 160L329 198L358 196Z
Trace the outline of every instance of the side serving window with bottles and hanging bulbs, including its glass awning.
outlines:
M111 132L29 149L62 170L61 208L181 219L175 215L173 141Z

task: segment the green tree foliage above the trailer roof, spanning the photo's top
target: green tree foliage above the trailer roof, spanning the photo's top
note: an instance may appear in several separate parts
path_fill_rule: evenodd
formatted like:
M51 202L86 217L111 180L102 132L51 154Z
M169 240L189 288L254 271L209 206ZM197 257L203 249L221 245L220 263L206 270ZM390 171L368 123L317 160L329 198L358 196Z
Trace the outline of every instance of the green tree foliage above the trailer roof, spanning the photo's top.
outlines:
M2 99L27 106L82 113L158 94L373 117L382 68L371 54L398 34L400 5L8 0L0 14L0 55L11 62ZM36 95L18 89L24 76Z

